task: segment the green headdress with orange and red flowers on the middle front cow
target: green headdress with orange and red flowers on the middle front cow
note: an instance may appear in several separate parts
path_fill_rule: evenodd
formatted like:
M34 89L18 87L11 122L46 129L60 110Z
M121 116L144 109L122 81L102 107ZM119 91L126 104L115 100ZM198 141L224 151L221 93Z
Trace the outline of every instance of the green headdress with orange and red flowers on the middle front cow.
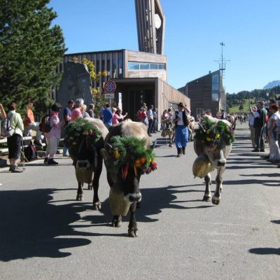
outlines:
M151 148L146 148L145 139L137 139L132 136L116 136L111 138L111 153L113 160L108 162L114 170L121 170L123 179L126 178L130 167L134 168L134 174L141 169L149 174L157 169L155 155Z

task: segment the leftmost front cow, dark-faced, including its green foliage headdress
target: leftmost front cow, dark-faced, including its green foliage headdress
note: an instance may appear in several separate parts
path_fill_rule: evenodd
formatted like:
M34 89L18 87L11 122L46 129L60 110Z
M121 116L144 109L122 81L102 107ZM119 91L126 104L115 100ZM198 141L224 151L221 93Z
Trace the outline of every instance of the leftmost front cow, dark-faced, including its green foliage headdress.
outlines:
M108 134L102 120L78 118L66 126L65 143L75 167L78 191L76 200L83 200L83 183L93 187L93 207L101 209L98 197L99 178L102 173L103 159L100 149Z

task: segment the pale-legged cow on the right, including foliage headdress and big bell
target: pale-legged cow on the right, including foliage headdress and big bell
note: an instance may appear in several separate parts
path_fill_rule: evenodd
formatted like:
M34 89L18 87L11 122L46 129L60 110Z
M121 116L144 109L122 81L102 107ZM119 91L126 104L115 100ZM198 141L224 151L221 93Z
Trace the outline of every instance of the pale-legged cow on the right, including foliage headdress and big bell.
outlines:
M207 125L209 123L214 124L214 126L209 128ZM222 129L219 130L217 127L222 127ZM222 130L226 131L227 134L223 134ZM217 169L216 190L212 197L212 203L218 205L223 189L225 165L234 141L233 130L228 120L207 117L200 124L200 128L195 131L194 148L198 157L193 164L193 174L200 178L204 177L206 188L202 201L209 202L211 200L210 172Z

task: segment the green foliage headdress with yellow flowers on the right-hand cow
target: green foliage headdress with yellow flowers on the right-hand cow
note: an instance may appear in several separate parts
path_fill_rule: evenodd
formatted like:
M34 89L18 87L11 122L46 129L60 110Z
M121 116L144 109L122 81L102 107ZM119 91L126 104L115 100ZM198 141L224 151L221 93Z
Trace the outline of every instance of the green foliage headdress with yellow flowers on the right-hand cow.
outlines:
M221 138L223 138L226 145L230 145L235 141L235 134L232 127L222 120L214 123L209 118L205 118L201 125L202 127L195 130L195 139L199 139L204 146L216 146L219 144Z

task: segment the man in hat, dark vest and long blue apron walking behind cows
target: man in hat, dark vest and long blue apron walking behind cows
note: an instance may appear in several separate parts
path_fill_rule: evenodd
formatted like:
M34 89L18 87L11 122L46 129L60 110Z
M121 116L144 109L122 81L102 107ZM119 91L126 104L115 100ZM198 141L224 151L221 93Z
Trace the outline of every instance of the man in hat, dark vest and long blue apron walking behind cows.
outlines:
M186 146L188 144L188 113L190 113L190 110L185 104L180 102L178 104L178 111L175 111L172 116L172 123L175 123L175 144L178 158L181 157L182 153L183 155L186 153Z

